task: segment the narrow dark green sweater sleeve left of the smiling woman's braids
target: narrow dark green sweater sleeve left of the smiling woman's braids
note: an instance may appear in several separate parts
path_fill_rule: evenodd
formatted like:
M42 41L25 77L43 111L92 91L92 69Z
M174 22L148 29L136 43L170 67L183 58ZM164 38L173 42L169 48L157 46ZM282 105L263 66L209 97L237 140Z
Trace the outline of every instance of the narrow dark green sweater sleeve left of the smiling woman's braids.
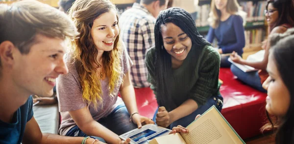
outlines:
M155 82L155 65L154 65L154 57L155 55L155 49L154 47L151 47L149 50L146 52L145 56L145 65L148 70L148 76L147 76L147 81L151 84L150 88L153 90L153 93L157 94L156 91L156 82Z

